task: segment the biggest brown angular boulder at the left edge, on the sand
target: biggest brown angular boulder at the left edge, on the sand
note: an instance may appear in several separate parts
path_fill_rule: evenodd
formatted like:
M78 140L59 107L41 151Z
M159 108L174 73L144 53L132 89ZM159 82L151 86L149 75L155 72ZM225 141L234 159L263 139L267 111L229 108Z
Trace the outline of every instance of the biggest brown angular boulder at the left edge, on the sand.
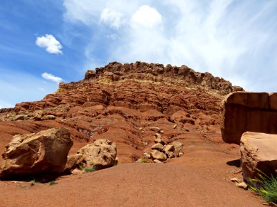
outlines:
M15 135L3 152L0 177L63 172L72 145L66 128Z

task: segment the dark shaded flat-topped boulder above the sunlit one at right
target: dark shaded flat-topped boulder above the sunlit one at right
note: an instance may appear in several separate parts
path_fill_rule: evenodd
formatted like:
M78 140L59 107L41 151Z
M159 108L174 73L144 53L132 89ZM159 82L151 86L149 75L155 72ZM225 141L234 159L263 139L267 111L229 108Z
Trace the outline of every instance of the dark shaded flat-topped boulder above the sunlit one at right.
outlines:
M243 132L277 134L277 93L233 92L222 101L222 139L240 144Z

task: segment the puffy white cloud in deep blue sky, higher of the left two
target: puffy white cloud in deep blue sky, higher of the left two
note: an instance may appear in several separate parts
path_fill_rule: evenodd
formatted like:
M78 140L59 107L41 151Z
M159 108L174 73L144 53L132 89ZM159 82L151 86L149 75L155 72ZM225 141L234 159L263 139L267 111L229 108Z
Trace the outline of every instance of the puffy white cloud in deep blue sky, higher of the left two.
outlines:
M49 53L62 54L62 45L52 34L45 34L45 36L37 37L35 43L41 48L46 48L46 51Z

